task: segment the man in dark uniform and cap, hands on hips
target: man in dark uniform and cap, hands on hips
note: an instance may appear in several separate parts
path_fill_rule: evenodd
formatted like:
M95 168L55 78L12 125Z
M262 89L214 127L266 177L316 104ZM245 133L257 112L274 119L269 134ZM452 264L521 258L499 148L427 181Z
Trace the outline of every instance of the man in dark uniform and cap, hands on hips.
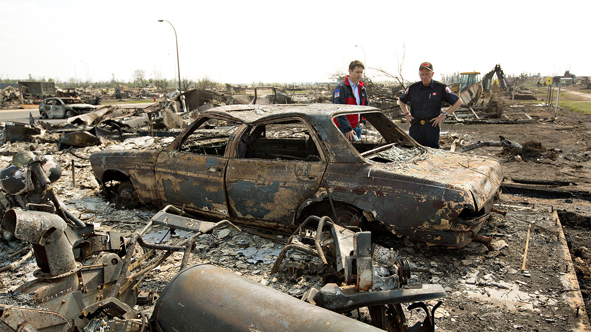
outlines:
M402 96L398 98L402 116L410 125L408 134L418 144L439 149L440 123L457 108L462 106L460 99L445 83L433 80L433 65L421 63L418 68L421 80L410 84ZM452 105L441 113L441 105L448 102ZM407 104L410 103L410 111Z

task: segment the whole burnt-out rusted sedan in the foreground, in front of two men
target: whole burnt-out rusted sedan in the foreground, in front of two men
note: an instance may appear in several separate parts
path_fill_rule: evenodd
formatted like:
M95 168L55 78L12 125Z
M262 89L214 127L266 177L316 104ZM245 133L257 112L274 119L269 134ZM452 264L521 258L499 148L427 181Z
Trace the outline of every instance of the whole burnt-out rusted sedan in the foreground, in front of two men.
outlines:
M350 113L368 121L361 141L333 122ZM222 106L164 149L100 151L90 162L120 196L202 217L291 230L336 215L455 247L475 238L502 180L496 160L423 147L379 109L332 104Z

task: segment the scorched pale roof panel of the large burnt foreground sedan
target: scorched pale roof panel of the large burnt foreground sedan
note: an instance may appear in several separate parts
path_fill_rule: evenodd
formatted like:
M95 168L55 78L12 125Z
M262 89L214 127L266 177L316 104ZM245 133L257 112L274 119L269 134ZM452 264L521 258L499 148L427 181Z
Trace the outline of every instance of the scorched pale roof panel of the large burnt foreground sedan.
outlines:
M288 105L228 105L203 112L203 115L217 115L234 121L253 123L275 118L301 116L309 122L332 119L347 113L380 111L370 106L341 104L288 104Z

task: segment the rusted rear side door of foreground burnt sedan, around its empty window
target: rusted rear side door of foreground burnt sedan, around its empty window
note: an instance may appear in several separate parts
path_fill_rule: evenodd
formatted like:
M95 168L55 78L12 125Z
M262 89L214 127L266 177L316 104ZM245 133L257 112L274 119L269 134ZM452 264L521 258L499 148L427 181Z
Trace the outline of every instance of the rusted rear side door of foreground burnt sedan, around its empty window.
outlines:
M239 156L245 136L256 126L298 120L306 126L320 161L268 160ZM267 119L249 123L236 132L226 168L228 208L236 219L255 226L290 229L296 222L298 210L320 187L328 166L324 145L310 123L302 116ZM300 185L298 185L298 181Z

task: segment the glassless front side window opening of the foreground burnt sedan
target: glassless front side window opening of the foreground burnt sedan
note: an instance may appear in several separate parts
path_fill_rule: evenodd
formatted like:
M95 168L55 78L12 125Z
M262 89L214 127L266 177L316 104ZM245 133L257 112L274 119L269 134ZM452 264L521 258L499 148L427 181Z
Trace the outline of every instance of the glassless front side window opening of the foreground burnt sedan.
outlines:
M219 119L204 121L181 142L179 151L223 156L230 136L240 125L241 123Z

